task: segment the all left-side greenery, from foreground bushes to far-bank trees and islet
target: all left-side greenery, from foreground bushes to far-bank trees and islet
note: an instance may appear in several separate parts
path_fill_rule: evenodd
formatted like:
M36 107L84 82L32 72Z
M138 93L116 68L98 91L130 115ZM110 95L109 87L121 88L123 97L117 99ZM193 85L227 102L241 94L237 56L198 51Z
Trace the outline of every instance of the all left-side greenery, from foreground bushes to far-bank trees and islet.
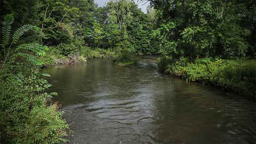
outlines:
M130 0L104 7L94 0L0 0L0 9L3 143L65 141L68 126L58 105L47 105L56 94L44 92L51 85L40 67L114 57L131 64L134 55L158 52L150 40L153 23Z

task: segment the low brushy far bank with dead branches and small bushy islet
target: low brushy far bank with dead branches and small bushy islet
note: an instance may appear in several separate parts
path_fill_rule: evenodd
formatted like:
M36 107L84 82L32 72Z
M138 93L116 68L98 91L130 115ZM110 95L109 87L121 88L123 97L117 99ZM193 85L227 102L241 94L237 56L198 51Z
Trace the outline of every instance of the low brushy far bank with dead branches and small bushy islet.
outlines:
M82 49L69 54L63 54L63 52L56 48L49 49L46 55L40 57L40 60L43 62L42 67L85 63L88 59L93 58L113 58L114 64L116 65L130 65L136 63L135 55L128 49L124 49L123 52L118 55L116 52L112 52L111 49L97 48L93 50L89 47L82 47Z

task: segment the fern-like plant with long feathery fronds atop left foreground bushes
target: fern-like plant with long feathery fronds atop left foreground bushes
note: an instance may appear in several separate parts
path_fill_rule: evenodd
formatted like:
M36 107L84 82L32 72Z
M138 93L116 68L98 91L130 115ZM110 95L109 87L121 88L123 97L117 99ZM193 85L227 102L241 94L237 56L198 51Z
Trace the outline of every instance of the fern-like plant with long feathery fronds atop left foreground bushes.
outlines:
M30 62L33 65L42 65L43 62L38 59L38 56L45 55L45 50L48 50L46 46L43 46L38 43L29 43L29 44L22 44L16 45L16 47L12 47L12 44L18 43L18 40L22 35L24 35L29 30L38 30L38 27L33 25L23 25L12 35L12 42L10 42L11 38L11 24L13 23L14 17L13 15L6 15L4 16L4 20L2 22L2 43L1 46L4 48L4 58L3 64L0 66L3 69L6 62L15 63L17 62L17 58L25 58L26 61ZM8 50L6 50L8 46ZM11 50L13 49L13 50ZM14 53L13 53L14 52Z

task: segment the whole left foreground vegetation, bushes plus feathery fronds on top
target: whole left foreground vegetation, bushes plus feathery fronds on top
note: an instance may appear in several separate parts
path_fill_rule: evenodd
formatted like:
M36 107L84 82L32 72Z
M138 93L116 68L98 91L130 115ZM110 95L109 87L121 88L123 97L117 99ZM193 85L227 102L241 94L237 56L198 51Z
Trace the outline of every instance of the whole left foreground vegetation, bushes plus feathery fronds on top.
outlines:
M51 85L40 74L39 59L48 49L38 43L21 44L22 35L38 28L23 25L13 31L13 15L2 22L0 67L0 135L3 143L64 142L68 125L57 111L58 104L47 105L56 93L47 94ZM3 55L2 55L3 54Z

